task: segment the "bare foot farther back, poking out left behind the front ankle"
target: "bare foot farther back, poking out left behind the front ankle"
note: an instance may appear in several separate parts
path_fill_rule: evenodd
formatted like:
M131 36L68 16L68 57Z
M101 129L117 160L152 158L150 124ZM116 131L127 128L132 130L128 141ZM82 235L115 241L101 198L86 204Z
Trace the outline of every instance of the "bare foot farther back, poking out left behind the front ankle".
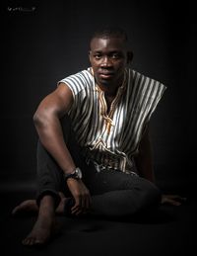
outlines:
M27 213L38 213L38 207L35 200L26 200L12 211L12 215L22 215Z

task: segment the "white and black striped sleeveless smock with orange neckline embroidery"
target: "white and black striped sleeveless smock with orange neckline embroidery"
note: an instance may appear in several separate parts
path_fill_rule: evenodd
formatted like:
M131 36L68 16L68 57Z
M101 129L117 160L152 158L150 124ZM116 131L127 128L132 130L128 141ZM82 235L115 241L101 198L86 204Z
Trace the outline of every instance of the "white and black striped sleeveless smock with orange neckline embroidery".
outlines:
M133 155L163 96L164 84L125 69L124 82L107 113L104 93L95 81L92 68L60 82L73 93L74 103L68 114L87 160L102 169L133 172Z

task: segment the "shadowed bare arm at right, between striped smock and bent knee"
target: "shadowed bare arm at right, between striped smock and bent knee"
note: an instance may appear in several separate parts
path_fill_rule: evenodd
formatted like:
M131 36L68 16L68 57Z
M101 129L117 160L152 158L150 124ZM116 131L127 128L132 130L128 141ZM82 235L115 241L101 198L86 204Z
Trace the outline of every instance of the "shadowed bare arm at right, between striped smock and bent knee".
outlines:
M153 150L150 141L149 127L146 128L140 142L139 153L135 157L135 163L140 176L155 183Z

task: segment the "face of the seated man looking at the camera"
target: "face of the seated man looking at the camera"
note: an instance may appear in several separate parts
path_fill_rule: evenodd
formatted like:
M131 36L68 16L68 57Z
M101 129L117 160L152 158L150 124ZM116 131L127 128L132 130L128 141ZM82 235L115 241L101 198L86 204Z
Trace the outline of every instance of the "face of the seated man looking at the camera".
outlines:
M126 44L121 39L95 38L91 42L90 62L101 87L119 86L128 62Z

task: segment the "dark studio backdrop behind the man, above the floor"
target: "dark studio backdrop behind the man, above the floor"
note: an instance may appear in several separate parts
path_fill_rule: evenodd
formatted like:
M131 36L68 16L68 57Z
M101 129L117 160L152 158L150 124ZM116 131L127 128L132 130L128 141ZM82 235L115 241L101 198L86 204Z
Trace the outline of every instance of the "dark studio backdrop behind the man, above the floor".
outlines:
M1 188L33 188L33 113L58 80L89 66L89 38L109 24L128 32L133 68L167 86L151 122L158 183L191 190L197 27L189 2L176 2L3 1Z

